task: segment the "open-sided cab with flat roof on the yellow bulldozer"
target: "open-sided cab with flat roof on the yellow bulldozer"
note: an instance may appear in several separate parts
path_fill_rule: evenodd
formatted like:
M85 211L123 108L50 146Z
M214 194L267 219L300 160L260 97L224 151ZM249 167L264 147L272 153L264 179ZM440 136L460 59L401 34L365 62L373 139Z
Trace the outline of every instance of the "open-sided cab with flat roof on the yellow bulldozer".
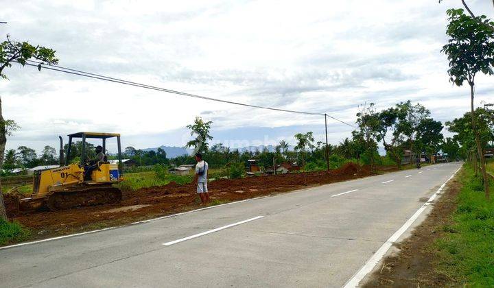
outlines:
M74 143L73 139L81 139L82 149L80 152L80 166L84 167L85 160L87 156L89 156L89 151L87 150L89 145L86 142L87 139L100 139L101 145L103 147L103 152L106 152L106 141L108 139L115 138L117 140L117 149L118 149L118 162L117 162L117 171L118 173L110 173L110 178L112 180L118 180L122 175L122 162L121 162L121 145L120 145L120 134L116 133L99 133L99 132L78 132L74 134L69 134L69 143L67 145L67 157L65 158L65 165L70 165L71 161L71 149L73 148L72 144ZM112 170L113 171L113 170ZM111 172L111 171L110 171ZM97 177L95 177L97 178Z

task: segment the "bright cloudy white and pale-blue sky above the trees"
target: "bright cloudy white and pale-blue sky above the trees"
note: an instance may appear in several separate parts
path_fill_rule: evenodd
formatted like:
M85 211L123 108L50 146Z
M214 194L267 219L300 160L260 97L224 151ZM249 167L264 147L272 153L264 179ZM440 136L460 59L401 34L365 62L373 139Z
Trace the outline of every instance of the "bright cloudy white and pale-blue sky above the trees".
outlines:
M469 1L492 16L488 0ZM357 106L408 99L447 121L469 108L440 53L447 8L459 0L102 1L0 0L1 37L56 49L60 66L219 99L327 112L353 123ZM119 132L124 147L183 146L185 125L213 121L228 145L294 142L324 133L323 117L256 110L14 64L0 81L19 145L56 147L71 132ZM493 101L478 80L477 105ZM329 121L329 141L351 128ZM110 146L111 149L111 146Z

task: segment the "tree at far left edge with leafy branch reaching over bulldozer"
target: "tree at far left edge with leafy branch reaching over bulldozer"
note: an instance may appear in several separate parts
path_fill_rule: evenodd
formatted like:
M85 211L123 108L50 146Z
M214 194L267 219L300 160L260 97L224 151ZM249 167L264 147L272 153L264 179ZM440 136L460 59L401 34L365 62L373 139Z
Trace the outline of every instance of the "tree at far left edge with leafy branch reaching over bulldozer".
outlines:
M30 59L40 60L47 64L57 64L58 59L55 58L55 51L40 46L33 46L27 42L16 42L10 40L10 36L7 35L7 40L0 44L0 78L8 79L7 75L3 73L3 70L7 67L12 67L12 62L17 62L24 66ZM41 66L38 66L41 69ZM8 131L12 129L12 121L4 120L1 113L1 99L0 99L0 169L3 167L3 156L5 153L5 143L7 143ZM14 128L16 126L14 125ZM5 205L3 204L3 195L1 193L0 183L0 217L7 219L7 213L5 212Z

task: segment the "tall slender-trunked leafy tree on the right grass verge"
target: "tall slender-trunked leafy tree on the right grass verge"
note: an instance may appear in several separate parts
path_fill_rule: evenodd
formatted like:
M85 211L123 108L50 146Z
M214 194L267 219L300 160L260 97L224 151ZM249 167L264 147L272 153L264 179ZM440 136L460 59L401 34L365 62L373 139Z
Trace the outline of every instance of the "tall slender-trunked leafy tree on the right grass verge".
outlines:
M489 178L485 167L483 147L480 143L480 135L475 123L474 87L477 73L493 75L494 66L494 30L486 25L493 25L487 17L467 16L462 9L447 10L449 24L446 34L449 36L447 45L443 46L443 53L449 60L449 81L457 86L462 86L467 81L470 86L470 112L471 125L475 136L478 158L480 158L480 170L484 182L484 192L489 199ZM484 23L484 25L482 25Z

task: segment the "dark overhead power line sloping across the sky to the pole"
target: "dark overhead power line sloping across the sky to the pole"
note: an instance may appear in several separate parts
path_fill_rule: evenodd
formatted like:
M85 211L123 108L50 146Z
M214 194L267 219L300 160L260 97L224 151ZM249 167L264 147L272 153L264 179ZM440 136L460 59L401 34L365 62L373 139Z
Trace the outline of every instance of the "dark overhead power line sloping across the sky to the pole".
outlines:
M167 89L167 88L151 86L148 84L141 84L138 82L122 80L122 79L115 78L115 77L108 77L108 76L101 75L101 74L89 73L86 71L71 69L71 68L67 68L67 67L61 67L61 66L54 67L52 65L43 64L43 62L36 62L36 61L32 61L32 60L27 60L27 61L31 62L31 63L35 63L35 64L26 63L27 65L32 66L32 67L38 67L38 69L44 68L44 69L49 69L49 70L58 71L58 72L62 72L62 73L68 73L68 74L72 74L72 75L80 75L83 77L90 77L93 79L115 82L115 83L119 83L119 84L126 84L126 85L130 85L130 86L141 87L141 88L148 88L148 89L152 89L152 90L156 90L156 91L162 91L162 92L172 93L172 94L176 94L176 95L183 95L183 96L187 96L187 97L205 99L205 100L209 100L209 101L218 101L218 102L223 102L223 103L227 103L227 104L234 104L234 105L246 106L246 107L251 107L251 108L261 108L261 109L267 109L267 110L290 112L290 113L297 113L297 114L304 114L304 115L319 115L319 116L325 116L326 115L327 117L329 117L333 120L336 120L336 121L343 123L345 125L349 125L352 128L356 128L355 125L352 125L350 123L342 121L336 117L328 115L327 113L307 112L307 111L299 111L299 110L287 110L287 109L273 108L273 107L267 107L267 106L257 106L257 105L252 105L252 104L244 104L244 103L235 102L235 101L228 101L228 100L223 100L223 99L217 99L217 98L212 98L212 97L206 97L206 96L201 96L201 95L196 95L196 94L191 94L191 93L175 91L175 90L171 90L171 89Z

